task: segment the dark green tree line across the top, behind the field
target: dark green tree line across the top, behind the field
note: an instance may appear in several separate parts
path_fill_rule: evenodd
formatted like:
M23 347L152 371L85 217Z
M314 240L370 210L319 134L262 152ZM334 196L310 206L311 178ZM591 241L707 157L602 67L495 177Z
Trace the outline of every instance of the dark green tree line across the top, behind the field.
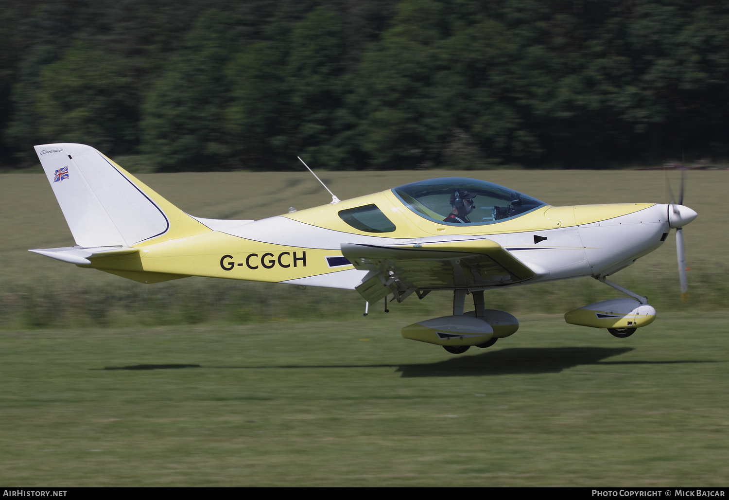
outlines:
M729 156L729 4L0 0L0 161L158 172Z

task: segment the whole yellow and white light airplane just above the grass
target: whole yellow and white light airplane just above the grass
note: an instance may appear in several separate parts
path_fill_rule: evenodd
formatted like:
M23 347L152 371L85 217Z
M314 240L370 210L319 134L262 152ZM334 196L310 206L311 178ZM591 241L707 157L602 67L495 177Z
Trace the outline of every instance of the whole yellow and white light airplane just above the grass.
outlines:
M605 277L658 248L696 212L679 202L552 207L483 180L448 177L262 220L182 212L93 147L35 147L76 246L31 252L143 283L189 276L356 290L370 303L453 291L453 315L402 328L450 353L488 347L518 320L486 309L484 291L594 277L631 299L567 312L618 337L655 319L643 296ZM474 309L465 311L467 294ZM366 314L365 309L365 314Z

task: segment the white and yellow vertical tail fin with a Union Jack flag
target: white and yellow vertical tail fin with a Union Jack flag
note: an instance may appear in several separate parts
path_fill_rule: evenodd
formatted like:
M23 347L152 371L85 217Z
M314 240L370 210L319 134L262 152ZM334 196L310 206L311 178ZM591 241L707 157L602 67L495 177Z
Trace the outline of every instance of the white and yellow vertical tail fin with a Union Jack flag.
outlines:
M210 231L93 147L35 147L77 245L129 247Z

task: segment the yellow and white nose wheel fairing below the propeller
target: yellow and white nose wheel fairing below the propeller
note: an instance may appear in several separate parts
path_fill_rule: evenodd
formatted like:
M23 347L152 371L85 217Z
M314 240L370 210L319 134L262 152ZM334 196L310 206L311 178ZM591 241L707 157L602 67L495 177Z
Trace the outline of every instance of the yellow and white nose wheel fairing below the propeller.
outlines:
M655 309L636 299L609 299L573 309L564 320L592 328L641 328L653 323Z

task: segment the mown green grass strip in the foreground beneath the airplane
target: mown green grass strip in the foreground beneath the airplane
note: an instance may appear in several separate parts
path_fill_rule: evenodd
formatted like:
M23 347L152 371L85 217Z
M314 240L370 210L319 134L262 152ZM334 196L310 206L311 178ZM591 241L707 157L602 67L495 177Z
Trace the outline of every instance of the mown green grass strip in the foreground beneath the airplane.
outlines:
M418 319L5 332L0 482L727 484L726 315L530 315L457 356Z

